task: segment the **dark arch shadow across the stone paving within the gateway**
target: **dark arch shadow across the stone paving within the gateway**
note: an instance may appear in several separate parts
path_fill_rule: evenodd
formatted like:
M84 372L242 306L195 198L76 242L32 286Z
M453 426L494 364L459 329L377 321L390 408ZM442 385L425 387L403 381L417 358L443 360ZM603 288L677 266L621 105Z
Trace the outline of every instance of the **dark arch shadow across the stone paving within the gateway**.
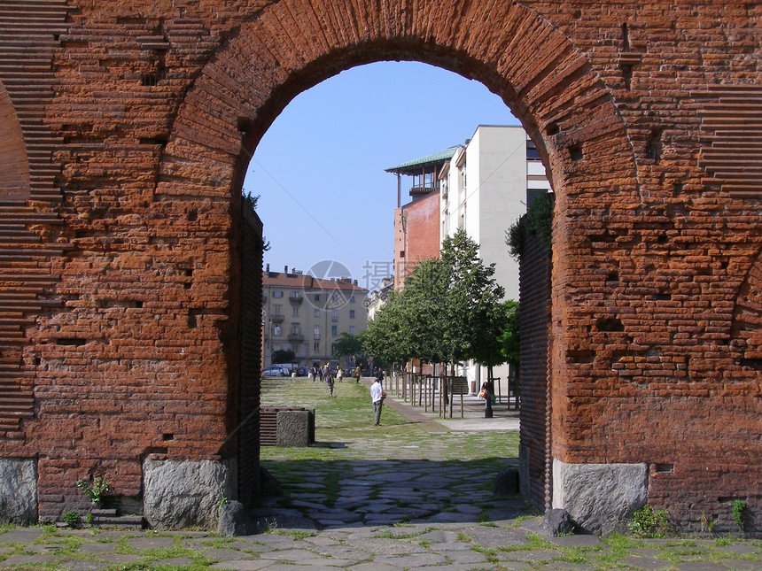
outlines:
M494 482L512 459L263 460L284 490L254 510L260 527L330 529L400 523L478 523L535 513Z

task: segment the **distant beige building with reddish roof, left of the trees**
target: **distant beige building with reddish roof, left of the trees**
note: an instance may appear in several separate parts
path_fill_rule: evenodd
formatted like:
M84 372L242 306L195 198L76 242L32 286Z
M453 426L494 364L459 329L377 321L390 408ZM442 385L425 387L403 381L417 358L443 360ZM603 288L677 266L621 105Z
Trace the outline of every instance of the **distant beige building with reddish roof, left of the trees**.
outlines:
M273 364L278 349L294 351L299 367L336 363L331 352L339 334L357 335L368 327L367 295L349 278L319 279L293 269L263 272L264 367Z

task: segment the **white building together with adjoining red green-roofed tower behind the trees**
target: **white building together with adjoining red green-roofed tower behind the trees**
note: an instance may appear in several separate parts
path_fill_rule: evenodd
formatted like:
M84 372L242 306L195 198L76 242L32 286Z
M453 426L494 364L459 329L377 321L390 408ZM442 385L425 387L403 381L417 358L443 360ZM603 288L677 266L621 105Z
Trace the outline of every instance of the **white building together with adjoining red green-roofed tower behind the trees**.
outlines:
M505 231L523 216L533 197L551 192L545 167L524 127L479 125L463 145L386 169L397 174L398 208L394 222L394 289L423 258L439 256L441 243L458 228L479 244L485 264L495 265L495 280L505 299L518 299L518 262L505 244ZM432 176L432 173L434 175ZM402 176L411 179L412 200L400 205ZM439 209L432 215L432 207ZM438 228L433 229L436 221ZM432 243L436 240L436 245ZM472 391L486 379L486 368L473 363L461 374ZM509 367L497 367L502 395Z

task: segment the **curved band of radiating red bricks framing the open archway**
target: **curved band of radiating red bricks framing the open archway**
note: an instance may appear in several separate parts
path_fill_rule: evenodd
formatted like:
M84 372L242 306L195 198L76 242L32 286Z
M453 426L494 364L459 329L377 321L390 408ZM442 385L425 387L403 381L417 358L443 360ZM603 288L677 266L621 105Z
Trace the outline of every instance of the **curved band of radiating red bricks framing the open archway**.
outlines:
M284 0L237 30L184 98L161 158L155 199L172 201L184 194L236 201L256 144L294 96L352 66L418 60L484 83L533 138L556 190L554 296L573 295L577 286L571 276L589 271L579 255L589 254L589 243L579 214L569 213L577 198L598 196L609 216L626 215L641 202L626 127L587 59L547 19L516 3L465 8L455 1L430 3L417 12L391 3L388 18L372 11L346 14L346 5L338 4L322 3L317 14L306 0ZM569 221L574 216L576 227ZM231 245L231 252L236 248ZM626 252L612 252L602 266L618 267L617 257L626 258ZM561 311L554 305L559 348L570 344L564 336L571 335ZM560 349L550 359L554 390L563 395L561 382L579 376L579 364ZM559 404L560 410L568 406ZM584 462L584 454L574 455L584 430L568 436L563 423L564 414L556 413L554 439L556 433L562 436L552 445L553 456ZM550 447L545 436L539 440L533 477L547 479Z

